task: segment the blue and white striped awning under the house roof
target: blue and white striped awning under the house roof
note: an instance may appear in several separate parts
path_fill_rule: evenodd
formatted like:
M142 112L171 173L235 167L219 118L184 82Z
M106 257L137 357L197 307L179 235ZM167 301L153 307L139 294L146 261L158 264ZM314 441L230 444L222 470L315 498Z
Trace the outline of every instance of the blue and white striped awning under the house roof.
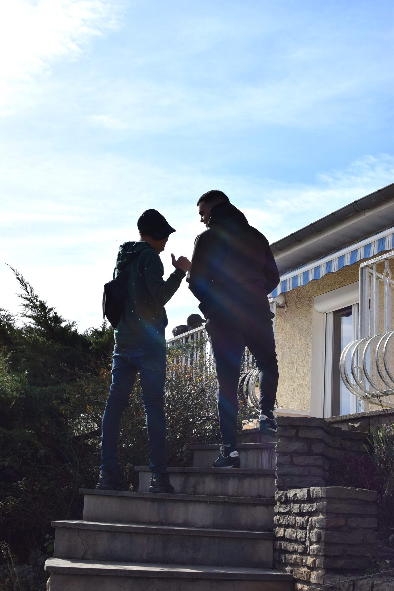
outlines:
M375 236L369 236L360 242L356 242L339 251L331 252L320 259L311 261L302 267L296 267L292 271L281 276L278 287L272 291L269 297L279 296L286 291L294 290L295 287L307 285L310 281L321 279L327 273L339 271L346 265L353 265L363 259L372 258L379 252L389 251L394 248L394 226Z

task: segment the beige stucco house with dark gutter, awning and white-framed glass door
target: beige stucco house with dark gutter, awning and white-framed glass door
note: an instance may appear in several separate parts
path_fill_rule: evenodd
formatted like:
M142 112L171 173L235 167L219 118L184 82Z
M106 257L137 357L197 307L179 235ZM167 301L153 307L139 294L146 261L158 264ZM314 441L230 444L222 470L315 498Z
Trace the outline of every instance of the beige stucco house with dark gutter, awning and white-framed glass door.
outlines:
M360 360L365 361L370 381L379 382L380 391L394 392L392 338L385 349L386 366L382 358L394 329L393 236L394 183L272 243L281 275L271 294L279 363L278 414L332 417L380 409L376 398L369 397L374 390ZM350 346L342 363L342 373L350 376L345 383L341 353L349 343L375 335L387 335L379 349L379 367L375 362L379 339L365 353L367 341L359 343L353 371L360 387L353 387ZM386 407L394 407L393 395L382 400Z

